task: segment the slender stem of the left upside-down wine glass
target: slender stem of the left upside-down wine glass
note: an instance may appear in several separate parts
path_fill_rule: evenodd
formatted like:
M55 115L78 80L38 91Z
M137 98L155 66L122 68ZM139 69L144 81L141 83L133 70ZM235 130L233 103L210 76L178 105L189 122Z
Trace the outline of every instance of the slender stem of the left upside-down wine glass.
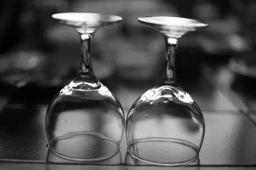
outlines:
M92 41L94 33L79 33L81 39L81 63L77 81L95 81L96 77L92 66Z

